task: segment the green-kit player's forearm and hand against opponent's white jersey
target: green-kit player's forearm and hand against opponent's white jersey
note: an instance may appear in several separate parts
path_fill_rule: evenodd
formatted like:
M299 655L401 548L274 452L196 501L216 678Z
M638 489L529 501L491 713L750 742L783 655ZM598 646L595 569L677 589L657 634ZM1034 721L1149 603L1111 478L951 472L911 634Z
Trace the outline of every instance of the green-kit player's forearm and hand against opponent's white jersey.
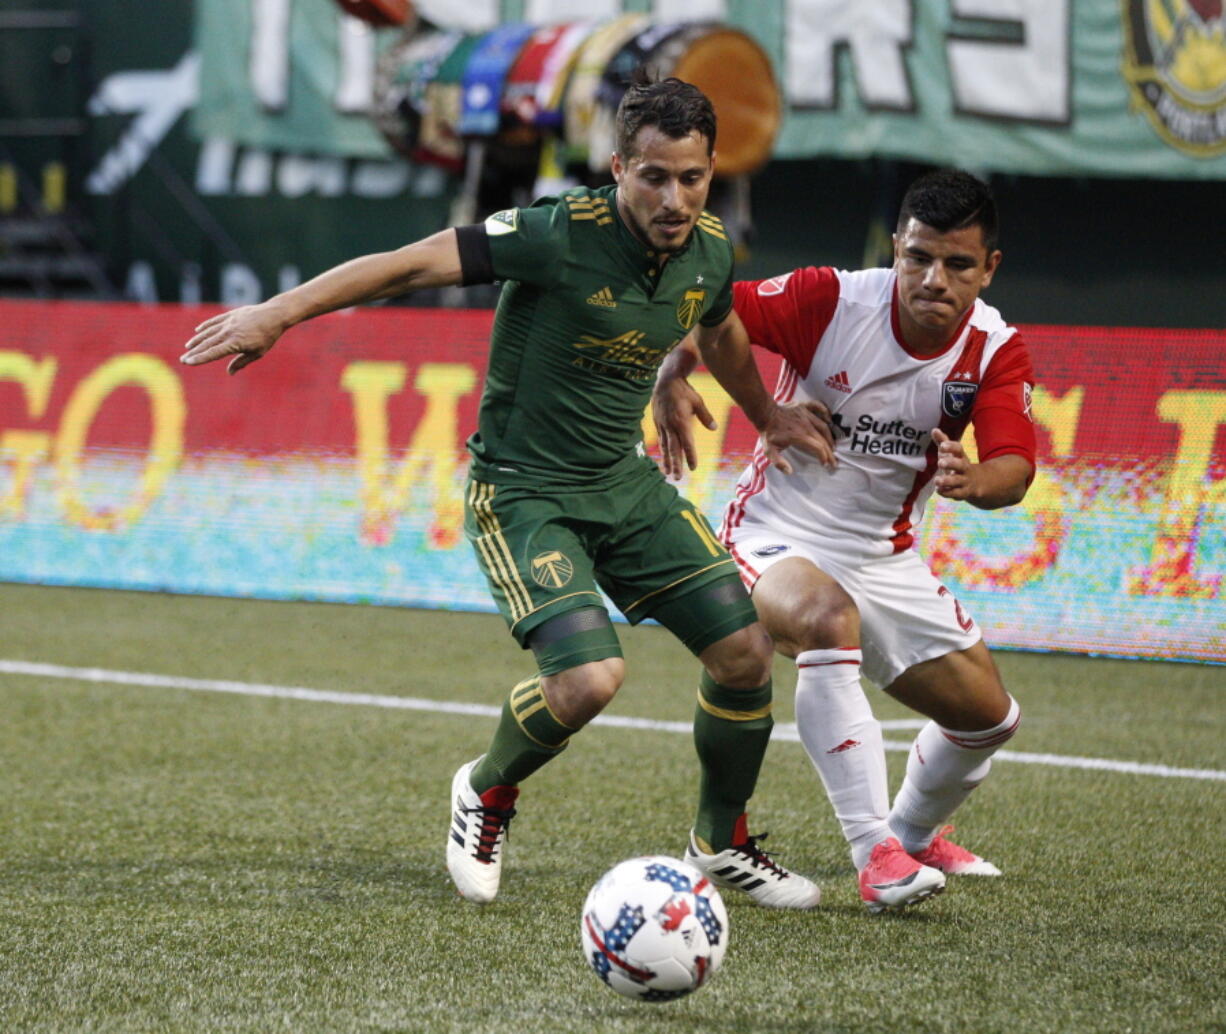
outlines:
M736 309L717 326L699 324L695 340L707 369L758 428L766 459L774 466L791 473L792 465L783 450L794 446L815 456L828 470L834 470L837 461L830 411L818 401L780 405L771 397L758 373L749 335Z

